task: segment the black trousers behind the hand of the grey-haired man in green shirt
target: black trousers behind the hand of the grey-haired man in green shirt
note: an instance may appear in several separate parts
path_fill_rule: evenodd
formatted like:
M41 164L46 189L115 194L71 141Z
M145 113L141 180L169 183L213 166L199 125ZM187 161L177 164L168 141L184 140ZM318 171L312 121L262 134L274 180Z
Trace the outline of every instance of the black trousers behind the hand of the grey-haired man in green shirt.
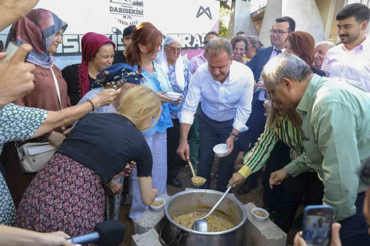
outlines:
M270 175L271 173L282 169L290 162L289 153L289 146L281 141L278 141L266 162L265 171L263 171L263 206L271 210L275 210L279 204L280 198L284 193L285 182L282 182L280 185L274 185L274 187L271 189L269 182Z

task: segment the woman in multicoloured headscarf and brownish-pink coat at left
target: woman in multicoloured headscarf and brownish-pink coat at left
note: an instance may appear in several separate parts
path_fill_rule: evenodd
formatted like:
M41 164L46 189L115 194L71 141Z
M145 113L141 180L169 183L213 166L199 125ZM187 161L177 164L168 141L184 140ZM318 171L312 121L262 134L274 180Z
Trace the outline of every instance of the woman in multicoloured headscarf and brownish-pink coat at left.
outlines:
M70 106L67 84L51 57L52 53L57 52L58 45L62 43L61 35L66 28L67 23L44 9L32 10L11 26L6 46L10 41L18 45L31 44L33 50L29 53L27 62L36 65L35 88L28 95L15 101L15 104L48 111L59 111ZM1 163L6 169L8 186L16 206L36 173L21 171L15 145L21 147L25 143L47 140L59 147L65 139L62 132L67 128L68 126L57 127L37 139L27 142L9 142L4 147Z

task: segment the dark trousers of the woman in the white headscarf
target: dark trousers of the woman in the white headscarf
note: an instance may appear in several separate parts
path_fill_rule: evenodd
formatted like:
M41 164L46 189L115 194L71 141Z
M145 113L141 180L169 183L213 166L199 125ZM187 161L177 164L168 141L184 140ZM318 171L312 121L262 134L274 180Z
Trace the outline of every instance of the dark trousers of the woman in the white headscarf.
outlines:
M180 121L172 119L173 127L167 129L167 179L175 179L184 161L176 153L180 144Z

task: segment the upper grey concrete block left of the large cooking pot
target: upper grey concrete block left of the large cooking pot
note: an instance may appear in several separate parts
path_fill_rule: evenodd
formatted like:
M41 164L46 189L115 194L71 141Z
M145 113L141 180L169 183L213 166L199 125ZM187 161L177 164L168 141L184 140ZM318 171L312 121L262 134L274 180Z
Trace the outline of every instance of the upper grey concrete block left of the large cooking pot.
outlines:
M161 198L167 201L170 196L163 194ZM165 223L165 218L164 209L160 211L154 211L149 207L139 218L134 221L135 234L146 233L152 228L159 232Z

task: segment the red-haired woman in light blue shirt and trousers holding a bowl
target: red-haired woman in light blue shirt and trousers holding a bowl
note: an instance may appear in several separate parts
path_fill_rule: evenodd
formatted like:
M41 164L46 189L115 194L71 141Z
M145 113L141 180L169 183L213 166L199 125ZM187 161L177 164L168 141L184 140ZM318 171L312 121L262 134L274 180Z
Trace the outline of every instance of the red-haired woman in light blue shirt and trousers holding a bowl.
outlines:
M146 141L153 157L153 187L158 189L158 196L166 194L167 180L167 129L172 127L171 113L180 110L182 95L178 101L166 97L172 92L166 70L154 63L161 51L162 33L149 22L141 22L131 35L133 43L127 49L127 64L136 68L143 79L141 84L158 94L162 102L162 113L158 122L148 131L144 132ZM148 105L150 102L148 102ZM137 169L130 174L129 195L132 205L128 216L138 218L148 206L143 204L140 195Z

